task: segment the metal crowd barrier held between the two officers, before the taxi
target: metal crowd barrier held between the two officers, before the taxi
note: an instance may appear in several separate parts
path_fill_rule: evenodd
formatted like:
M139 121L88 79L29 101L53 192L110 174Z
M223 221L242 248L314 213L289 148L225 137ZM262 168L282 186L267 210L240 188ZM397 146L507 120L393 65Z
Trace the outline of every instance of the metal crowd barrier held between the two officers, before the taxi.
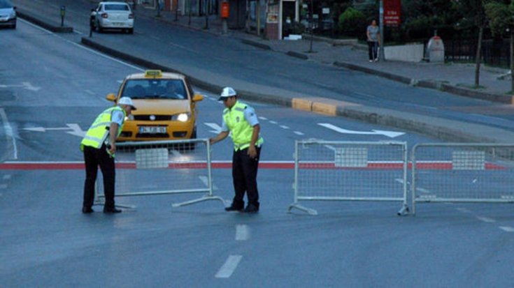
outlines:
M213 195L208 139L117 143L115 165L115 197L205 192L200 198L173 204L173 207L207 200L224 203L222 197ZM95 195L95 204L103 204L100 172Z

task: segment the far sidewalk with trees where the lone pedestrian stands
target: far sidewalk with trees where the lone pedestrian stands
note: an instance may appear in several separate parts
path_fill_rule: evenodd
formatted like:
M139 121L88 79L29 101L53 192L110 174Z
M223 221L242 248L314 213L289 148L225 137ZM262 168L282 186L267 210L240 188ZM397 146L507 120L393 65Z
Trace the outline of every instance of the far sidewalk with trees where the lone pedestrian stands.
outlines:
M149 17L169 24L184 26L206 33L222 36L222 23L219 15L208 17L181 16L169 11L157 12L151 9L137 8L136 17ZM357 40L337 40L304 34L301 40L266 40L257 36L255 31L246 33L242 30L229 30L227 37L241 39L248 45L282 52L290 56L327 65L340 66L364 73L385 77L413 86L438 89L460 96L490 100L497 103L513 104L511 80L506 75L508 70L480 66L480 88L475 89L474 63L413 63L403 61L379 61L370 63L367 46L357 44ZM311 49L312 45L312 49ZM502 79L500 79L502 78Z

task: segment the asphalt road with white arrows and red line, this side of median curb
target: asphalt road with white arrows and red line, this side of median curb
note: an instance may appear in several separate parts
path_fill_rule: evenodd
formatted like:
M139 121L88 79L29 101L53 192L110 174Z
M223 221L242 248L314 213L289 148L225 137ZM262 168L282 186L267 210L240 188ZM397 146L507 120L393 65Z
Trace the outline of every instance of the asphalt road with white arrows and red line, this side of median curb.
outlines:
M68 124L85 130L109 105L105 95L141 68L23 21L16 31L0 33L6 63L0 70L1 162L80 162L80 137ZM214 135L213 123L221 119L222 104L204 94L199 137ZM263 162L291 161L295 139L391 139L341 134L319 123L361 132L385 127L252 105L264 117ZM405 134L394 140L409 146L435 141L397 132ZM229 160L228 141L213 149L215 160ZM229 173L214 172L215 193L224 199L232 193ZM287 214L292 170L260 169L257 215L225 213L219 202L171 208L192 195L117 199L137 208L82 215L83 176L80 169L0 170L1 287L514 284L511 205L427 204L416 217L398 217L397 202L309 202L320 215Z

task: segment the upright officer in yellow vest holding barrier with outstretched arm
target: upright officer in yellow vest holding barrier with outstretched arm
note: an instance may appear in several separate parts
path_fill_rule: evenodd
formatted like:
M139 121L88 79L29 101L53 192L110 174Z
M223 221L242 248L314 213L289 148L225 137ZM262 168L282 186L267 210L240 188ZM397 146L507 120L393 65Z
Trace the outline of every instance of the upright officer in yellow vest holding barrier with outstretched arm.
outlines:
M232 155L232 179L235 196L226 211L243 211L256 213L259 211L259 192L257 190L257 167L264 139L255 110L237 100L237 94L231 87L225 87L218 100L223 100L223 124L220 134L209 139L210 144L225 139L231 132L234 142ZM248 206L243 210L243 197L247 192Z

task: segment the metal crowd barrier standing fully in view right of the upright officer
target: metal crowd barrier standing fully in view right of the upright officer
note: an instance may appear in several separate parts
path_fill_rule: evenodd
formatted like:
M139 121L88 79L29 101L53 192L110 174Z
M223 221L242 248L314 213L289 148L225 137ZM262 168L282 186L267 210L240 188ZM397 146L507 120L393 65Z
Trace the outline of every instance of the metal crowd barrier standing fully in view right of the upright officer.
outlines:
M316 215L299 204L319 201L398 201L407 206L406 142L295 142L293 208Z

